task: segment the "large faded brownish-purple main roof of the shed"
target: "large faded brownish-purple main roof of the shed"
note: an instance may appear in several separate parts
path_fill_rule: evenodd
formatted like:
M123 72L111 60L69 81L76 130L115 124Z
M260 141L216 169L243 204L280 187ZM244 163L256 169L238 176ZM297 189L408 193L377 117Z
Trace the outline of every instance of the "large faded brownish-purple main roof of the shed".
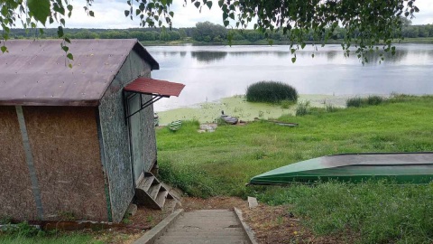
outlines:
M134 50L152 70L159 64L135 39L72 40L72 69L61 40L12 40L0 52L0 105L97 106Z

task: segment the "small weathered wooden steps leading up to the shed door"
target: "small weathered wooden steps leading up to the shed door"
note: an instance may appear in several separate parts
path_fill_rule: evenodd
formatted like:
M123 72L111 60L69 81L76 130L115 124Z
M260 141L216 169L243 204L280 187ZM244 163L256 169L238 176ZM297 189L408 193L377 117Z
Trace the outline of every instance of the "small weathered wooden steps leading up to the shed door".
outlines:
M144 173L141 181L135 189L135 202L156 210L162 210L166 199L173 199L169 189L152 173Z

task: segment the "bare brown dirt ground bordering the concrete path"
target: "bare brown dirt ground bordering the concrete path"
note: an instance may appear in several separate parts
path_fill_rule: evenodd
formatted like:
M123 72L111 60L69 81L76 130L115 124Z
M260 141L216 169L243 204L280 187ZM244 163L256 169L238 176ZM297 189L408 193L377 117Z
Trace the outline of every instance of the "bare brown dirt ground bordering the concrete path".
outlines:
M208 199L186 197L182 198L181 206L184 211L209 210L209 209L233 209L243 212L244 221L248 223L260 244L283 243L347 243L347 239L341 236L315 237L311 231L304 228L298 217L290 212L290 206L268 206L259 203L253 209L248 208L245 200L235 197L212 197ZM131 227L152 227L170 214L170 211L155 211L144 207L138 207L137 213L124 221ZM132 243L140 238L145 230L123 229L106 230L100 239L105 243Z

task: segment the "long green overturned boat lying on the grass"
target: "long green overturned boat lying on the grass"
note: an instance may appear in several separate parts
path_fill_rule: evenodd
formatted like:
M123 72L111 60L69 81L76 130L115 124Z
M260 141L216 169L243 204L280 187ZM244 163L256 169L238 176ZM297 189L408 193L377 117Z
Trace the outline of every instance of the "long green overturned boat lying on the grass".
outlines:
M360 183L387 179L395 183L433 181L433 153L384 153L327 155L289 164L254 176L250 184Z

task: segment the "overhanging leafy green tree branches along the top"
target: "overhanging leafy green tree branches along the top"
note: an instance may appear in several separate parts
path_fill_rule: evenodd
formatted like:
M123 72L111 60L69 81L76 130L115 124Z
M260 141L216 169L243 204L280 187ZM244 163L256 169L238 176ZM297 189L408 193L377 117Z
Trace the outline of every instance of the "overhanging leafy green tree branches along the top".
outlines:
M217 5L214 5L214 2ZM84 10L90 10L93 0L87 0ZM368 61L367 52L392 52L394 40L401 39L402 16L414 17L419 12L415 0L184 0L184 5L194 5L201 11L203 7L222 10L222 23L227 28L253 28L269 36L281 32L290 40L292 61L296 61L296 51L303 49L308 40L307 33L313 33L313 45L324 45L332 38L336 28L344 28L342 49L345 55L355 51L357 57ZM126 1L126 17L140 19L142 27L172 27L175 13L170 11L172 0ZM9 39L10 28L22 23L24 28L36 28L48 23L59 23L58 36L63 39L62 50L69 53L63 27L66 17L73 11L69 0L0 0L0 26L3 29L0 41L1 51L7 52L5 41ZM74 10L75 11L75 10ZM40 29L43 33L43 29ZM228 35L229 43L231 36ZM272 42L270 41L272 44ZM382 43L382 49L378 44ZM72 55L68 55L73 60ZM382 56L383 60L383 56Z

